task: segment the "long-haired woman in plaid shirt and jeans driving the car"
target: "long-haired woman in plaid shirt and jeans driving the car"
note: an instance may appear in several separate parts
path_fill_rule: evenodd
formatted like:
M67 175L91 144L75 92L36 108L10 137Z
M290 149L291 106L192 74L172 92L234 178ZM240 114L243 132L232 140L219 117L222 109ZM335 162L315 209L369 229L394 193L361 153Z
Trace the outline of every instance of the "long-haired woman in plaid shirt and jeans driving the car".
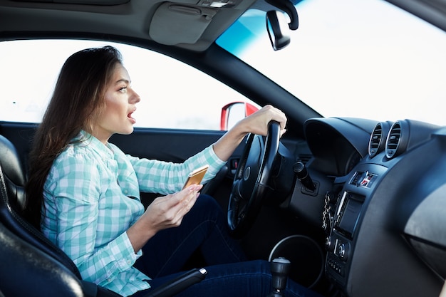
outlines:
M73 259L83 279L123 296L143 296L175 277L200 249L207 277L180 296L266 296L266 261L245 261L227 233L222 209L201 185L182 189L187 173L209 165L212 179L248 132L266 135L284 113L266 106L182 164L125 155L108 142L133 132L140 97L111 46L69 57L36 131L27 217ZM140 192L165 194L147 209ZM175 228L174 228L175 227ZM313 292L289 282L287 296Z

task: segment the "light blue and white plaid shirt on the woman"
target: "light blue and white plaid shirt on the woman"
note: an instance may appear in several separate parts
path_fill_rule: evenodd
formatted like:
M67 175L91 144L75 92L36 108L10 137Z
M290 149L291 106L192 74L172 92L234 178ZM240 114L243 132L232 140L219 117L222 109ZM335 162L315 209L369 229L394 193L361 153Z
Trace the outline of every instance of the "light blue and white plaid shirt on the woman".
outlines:
M142 252L135 254L126 233L145 211L140 191L180 191L187 174L204 164L206 182L224 162L212 146L182 164L140 159L82 131L46 179L43 234L70 256L84 280L123 296L150 288L149 278L133 267Z

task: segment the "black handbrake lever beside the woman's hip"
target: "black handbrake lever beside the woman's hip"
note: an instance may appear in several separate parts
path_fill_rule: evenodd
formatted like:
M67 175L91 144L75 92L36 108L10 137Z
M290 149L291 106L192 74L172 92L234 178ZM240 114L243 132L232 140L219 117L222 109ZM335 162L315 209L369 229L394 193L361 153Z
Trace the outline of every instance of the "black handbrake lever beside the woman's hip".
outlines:
M145 297L172 297L189 288L194 283L199 283L206 276L206 269L192 269L183 273L157 288L153 288Z

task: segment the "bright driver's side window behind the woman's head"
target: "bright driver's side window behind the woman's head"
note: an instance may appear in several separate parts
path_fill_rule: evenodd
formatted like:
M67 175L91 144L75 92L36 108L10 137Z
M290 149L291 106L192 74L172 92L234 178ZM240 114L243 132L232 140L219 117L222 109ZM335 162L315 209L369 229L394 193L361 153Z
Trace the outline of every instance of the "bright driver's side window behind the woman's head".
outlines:
M140 95L135 127L219 130L222 108L251 100L227 85L173 58L143 48L103 41L4 41L0 43L0 121L39 123L58 72L83 48L112 45ZM51 48L51 51L48 51Z

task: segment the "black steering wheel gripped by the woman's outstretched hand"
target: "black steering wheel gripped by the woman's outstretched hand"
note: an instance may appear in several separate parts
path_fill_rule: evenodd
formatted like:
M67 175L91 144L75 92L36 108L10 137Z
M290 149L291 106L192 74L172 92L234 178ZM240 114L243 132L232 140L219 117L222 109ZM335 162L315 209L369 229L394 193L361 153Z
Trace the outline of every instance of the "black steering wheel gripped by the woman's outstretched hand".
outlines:
M235 173L229 196L227 221L229 231L241 238L249 231L261 209L271 170L279 150L280 124L271 121L266 138L249 134L242 158Z

